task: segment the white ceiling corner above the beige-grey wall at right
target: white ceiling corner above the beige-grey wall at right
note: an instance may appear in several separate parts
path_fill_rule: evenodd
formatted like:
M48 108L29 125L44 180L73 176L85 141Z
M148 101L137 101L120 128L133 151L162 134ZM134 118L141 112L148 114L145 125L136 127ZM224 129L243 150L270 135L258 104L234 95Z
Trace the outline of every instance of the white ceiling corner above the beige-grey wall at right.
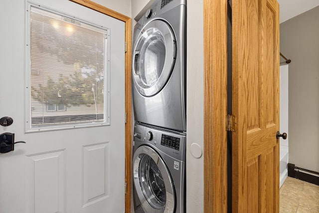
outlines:
M278 0L280 23L319 6L319 0Z

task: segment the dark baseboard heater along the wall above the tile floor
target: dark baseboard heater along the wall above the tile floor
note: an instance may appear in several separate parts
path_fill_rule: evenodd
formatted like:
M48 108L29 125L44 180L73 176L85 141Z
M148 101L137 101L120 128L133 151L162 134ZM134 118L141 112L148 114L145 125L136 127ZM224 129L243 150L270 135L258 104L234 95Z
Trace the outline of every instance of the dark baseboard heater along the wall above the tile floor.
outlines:
M319 186L319 172L296 167L295 164L288 164L288 176Z

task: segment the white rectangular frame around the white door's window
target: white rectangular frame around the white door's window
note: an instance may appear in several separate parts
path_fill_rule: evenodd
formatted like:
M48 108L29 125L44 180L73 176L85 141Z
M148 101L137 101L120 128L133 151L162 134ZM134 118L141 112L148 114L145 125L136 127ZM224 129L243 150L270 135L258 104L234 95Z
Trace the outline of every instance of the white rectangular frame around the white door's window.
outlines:
M30 40L30 13L31 7L55 13L64 17L69 17L81 21L82 23L89 24L106 31L105 34L105 51L104 51L104 121L103 122L88 122L88 123L65 123L65 124L52 124L52 125L34 125L32 126L32 117L31 117L31 40ZM26 11L25 11L25 133L28 132L39 132L39 131L52 131L52 130L62 130L62 129L74 129L74 128L86 128L86 127L97 127L97 126L109 126L110 125L110 29L98 24L94 24L88 21L85 21L81 18L75 17L73 15L67 14L62 11L58 11L52 8L48 8L39 4L34 4L32 2L26 2ZM45 111L47 111L47 106ZM67 111L59 110L58 106L54 106L55 110L52 111ZM51 111L51 110L49 110ZM51 111L51 112L52 112Z

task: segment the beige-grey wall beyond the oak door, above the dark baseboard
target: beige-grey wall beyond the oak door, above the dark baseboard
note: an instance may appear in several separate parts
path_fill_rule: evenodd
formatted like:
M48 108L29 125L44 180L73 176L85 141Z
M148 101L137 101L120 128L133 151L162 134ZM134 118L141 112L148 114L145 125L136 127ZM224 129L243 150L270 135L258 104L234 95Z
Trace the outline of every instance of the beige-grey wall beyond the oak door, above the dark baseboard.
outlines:
M280 24L289 59L289 163L319 172L319 6Z

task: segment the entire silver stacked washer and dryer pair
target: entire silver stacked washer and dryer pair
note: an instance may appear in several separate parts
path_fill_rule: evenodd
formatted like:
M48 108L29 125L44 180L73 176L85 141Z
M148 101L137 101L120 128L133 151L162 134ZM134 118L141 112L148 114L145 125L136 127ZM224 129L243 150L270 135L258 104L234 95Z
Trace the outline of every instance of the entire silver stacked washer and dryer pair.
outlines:
M135 213L185 212L186 0L156 0L134 28Z

